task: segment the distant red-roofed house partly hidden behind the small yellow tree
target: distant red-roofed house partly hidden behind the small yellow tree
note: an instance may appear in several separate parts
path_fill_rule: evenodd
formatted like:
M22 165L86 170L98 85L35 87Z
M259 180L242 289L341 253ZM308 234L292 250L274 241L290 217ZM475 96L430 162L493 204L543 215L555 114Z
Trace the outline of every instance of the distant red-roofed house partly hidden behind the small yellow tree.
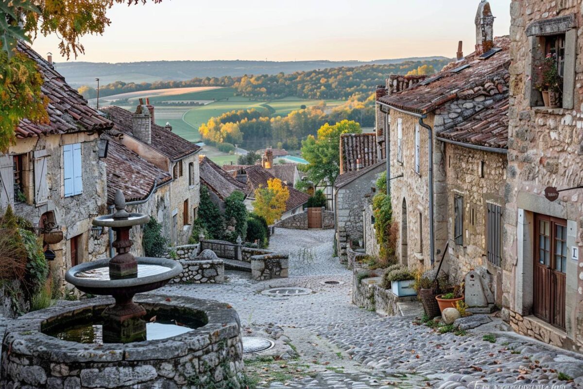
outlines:
M244 166L238 170L231 171L231 174L233 174L233 177L236 177L237 181L245 185L245 194L247 195L247 198L245 198L245 205L250 212L253 211L255 190L258 188L266 188L269 180L277 178L273 176L269 170L264 169L261 165ZM285 183L284 185L289 190L290 196L286 202L286 211L283 213L280 220L287 219L290 216L303 212L303 206L308 201L308 198L310 198L309 195L298 191L291 185Z

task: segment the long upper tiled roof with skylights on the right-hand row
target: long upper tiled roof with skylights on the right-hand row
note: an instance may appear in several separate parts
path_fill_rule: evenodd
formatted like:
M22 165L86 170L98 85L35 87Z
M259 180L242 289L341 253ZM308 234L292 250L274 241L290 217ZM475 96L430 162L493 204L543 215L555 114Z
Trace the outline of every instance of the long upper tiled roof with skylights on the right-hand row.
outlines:
M494 45L502 50L487 59L478 59L472 53L460 62L454 62L432 76L433 82L418 83L410 89L381 97L379 101L412 113L426 114L454 99L473 99L508 92L510 80L510 38L498 37ZM460 66L469 68L451 72ZM427 85L422 85L427 83Z

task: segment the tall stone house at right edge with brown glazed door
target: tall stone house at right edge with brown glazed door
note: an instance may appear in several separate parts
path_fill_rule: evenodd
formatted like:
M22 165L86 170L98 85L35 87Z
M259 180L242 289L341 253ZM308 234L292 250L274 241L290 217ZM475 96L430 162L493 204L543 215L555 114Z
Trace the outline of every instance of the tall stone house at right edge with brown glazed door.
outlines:
M523 335L583 351L581 0L512 1L503 319ZM537 62L554 57L562 101L544 107ZM545 198L548 194L555 201ZM552 197L554 195L554 197Z

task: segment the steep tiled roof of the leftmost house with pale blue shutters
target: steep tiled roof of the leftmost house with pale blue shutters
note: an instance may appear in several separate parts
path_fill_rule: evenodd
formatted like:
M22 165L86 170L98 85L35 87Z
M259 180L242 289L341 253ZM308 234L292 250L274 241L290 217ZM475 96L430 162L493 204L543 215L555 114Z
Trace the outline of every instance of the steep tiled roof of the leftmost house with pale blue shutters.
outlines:
M52 66L27 44L19 42L18 50L33 59L44 78L41 92L48 97L49 124L37 124L28 119L20 121L16 138L30 138L40 134L66 134L79 131L104 131L113 123L87 105L87 101L65 82Z

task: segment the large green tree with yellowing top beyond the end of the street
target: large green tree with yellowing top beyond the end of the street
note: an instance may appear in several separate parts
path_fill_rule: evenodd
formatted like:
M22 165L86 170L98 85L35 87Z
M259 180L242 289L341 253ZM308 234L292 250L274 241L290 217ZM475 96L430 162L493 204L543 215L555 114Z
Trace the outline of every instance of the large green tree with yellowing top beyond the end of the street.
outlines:
M308 161L303 168L312 183L328 180L333 183L340 174L340 135L360 134L360 124L342 120L334 125L324 124L318 129L318 138L308 135L301 142L301 155Z

